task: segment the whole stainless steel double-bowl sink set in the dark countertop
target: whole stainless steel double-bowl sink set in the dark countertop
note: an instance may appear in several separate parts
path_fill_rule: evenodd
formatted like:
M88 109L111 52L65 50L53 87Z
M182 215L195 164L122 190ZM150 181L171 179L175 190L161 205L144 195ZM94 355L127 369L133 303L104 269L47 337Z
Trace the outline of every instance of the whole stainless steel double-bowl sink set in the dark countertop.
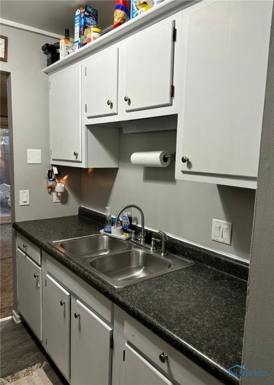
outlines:
M173 254L161 257L141 245L133 246L128 241L101 234L49 244L114 287L124 287L193 264Z

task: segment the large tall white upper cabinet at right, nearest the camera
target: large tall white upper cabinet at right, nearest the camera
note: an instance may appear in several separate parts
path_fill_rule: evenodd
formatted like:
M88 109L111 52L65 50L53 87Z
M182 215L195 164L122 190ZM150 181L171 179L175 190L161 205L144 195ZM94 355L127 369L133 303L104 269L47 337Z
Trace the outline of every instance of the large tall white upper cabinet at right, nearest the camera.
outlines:
M256 187L271 7L220 0L183 11L177 179Z

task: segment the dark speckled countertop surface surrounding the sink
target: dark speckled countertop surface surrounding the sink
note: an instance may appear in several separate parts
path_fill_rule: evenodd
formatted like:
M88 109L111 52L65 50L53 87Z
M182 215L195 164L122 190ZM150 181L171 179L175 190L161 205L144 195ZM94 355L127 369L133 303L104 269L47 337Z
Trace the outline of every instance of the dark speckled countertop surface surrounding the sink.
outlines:
M13 227L213 376L238 384L227 369L241 363L247 282L195 262L113 288L48 244L98 233L102 224L96 216L93 219L71 216L17 222Z

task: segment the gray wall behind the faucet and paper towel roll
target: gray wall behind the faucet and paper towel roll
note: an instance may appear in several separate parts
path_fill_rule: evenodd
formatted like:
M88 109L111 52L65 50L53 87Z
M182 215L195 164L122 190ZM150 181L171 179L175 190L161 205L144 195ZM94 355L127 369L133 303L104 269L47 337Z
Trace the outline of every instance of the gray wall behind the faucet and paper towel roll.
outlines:
M134 151L175 151L176 131L124 134L120 130L119 168L82 170L84 207L111 214L125 204L139 205L145 226L161 229L204 247L249 259L255 191L174 179L166 168L132 165ZM133 212L133 216L134 213ZM212 218L232 222L232 244L211 241Z

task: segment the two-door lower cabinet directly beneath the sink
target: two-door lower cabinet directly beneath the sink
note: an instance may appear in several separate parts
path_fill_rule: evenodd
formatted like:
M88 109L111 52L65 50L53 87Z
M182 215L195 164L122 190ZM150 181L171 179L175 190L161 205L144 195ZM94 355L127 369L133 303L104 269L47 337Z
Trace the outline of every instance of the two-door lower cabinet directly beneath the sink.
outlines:
M45 350L71 385L110 385L112 303L42 255Z

